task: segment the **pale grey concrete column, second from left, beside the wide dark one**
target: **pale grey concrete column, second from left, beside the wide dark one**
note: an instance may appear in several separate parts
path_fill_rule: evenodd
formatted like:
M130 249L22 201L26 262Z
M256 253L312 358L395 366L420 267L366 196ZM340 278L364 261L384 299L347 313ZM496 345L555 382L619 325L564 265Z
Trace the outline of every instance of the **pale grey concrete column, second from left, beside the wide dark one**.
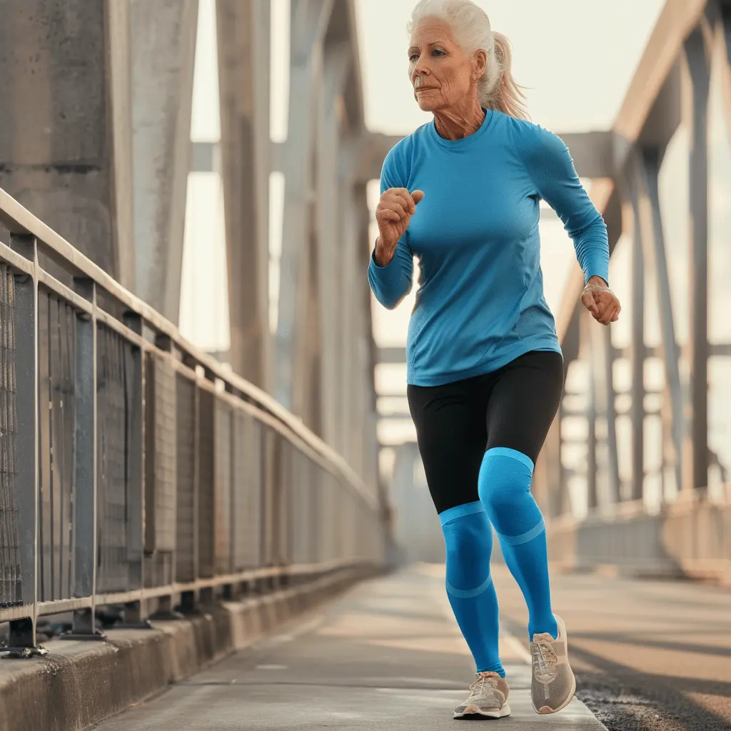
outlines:
M178 322L198 0L132 0L137 295Z

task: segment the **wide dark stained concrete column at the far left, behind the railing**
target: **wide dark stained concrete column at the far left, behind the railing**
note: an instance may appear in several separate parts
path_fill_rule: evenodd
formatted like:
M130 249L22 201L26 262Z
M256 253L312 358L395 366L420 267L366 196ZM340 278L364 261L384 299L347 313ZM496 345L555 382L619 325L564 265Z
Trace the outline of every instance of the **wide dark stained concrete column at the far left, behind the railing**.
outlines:
M0 187L135 286L127 0L0 6Z

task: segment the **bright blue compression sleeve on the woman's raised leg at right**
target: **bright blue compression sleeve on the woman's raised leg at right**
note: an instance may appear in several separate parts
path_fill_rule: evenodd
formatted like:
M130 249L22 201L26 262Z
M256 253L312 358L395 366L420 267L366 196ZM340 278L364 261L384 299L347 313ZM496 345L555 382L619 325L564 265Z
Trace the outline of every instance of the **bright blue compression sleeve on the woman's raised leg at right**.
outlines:
M532 640L536 632L558 637L558 626L550 603L545 525L531 495L531 477L533 461L523 452L493 447L482 458L480 500L526 599Z

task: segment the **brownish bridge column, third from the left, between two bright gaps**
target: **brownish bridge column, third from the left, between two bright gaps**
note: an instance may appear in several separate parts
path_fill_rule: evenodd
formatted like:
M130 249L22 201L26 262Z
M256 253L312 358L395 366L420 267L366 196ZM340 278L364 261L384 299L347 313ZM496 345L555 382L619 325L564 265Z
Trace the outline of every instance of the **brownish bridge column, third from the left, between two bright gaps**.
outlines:
M268 0L217 0L216 10L230 361L268 390L270 7Z

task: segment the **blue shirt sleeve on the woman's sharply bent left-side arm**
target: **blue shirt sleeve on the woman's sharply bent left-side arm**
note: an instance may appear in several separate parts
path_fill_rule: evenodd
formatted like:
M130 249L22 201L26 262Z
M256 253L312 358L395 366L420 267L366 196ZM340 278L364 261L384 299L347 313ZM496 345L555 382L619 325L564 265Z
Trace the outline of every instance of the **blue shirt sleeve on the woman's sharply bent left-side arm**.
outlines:
M398 143L386 156L381 171L381 193L389 188L406 188L408 173L401 159L401 146ZM385 308L393 310L412 289L414 274L414 254L408 243L408 233L398 240L393 259L385 266L376 264L374 246L368 263L368 282L376 300Z

